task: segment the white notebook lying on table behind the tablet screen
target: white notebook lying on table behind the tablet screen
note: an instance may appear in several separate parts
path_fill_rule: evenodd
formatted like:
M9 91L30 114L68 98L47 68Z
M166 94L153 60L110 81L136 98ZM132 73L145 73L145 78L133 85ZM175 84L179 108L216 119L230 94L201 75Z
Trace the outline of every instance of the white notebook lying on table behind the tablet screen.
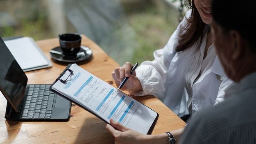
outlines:
M33 38L22 37L7 40L5 45L24 72L52 66Z

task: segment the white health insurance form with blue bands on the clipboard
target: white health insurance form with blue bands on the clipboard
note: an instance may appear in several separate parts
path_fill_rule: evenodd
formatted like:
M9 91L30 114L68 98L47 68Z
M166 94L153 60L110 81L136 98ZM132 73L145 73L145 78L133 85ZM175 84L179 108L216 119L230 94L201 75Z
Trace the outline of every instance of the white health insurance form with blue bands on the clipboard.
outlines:
M112 85L102 81L76 64L61 76L66 83L57 81L52 89L77 102L97 116L109 122L118 121L124 126L147 134L157 113L139 103L127 94L118 91Z

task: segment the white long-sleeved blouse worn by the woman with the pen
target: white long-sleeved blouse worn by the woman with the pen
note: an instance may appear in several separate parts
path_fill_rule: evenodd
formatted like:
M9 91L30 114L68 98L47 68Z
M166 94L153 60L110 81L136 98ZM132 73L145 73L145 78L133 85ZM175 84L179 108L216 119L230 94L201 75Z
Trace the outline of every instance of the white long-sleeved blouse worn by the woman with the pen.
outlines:
M190 16L191 10L186 17ZM224 100L225 90L232 83L224 73L215 48L211 45L204 57L207 33L199 49L176 52L182 20L163 49L154 52L153 61L144 61L136 69L143 91L135 96L154 95L178 116L194 115L198 110Z

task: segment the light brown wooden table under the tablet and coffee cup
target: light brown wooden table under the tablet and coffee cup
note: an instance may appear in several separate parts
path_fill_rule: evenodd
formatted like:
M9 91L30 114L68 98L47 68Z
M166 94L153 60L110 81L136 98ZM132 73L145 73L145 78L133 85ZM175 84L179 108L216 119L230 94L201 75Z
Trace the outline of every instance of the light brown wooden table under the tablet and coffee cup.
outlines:
M59 40L53 38L37 41L37 44L50 59L49 51L59 45ZM119 65L86 36L82 36L82 45L93 50L93 59L79 66L116 87L111 78L111 72ZM52 83L66 67L66 65L52 63L52 67L26 72L28 83ZM145 96L136 97L136 99L159 113L159 119L152 134L184 127L185 122L155 97ZM106 123L75 104L72 104L68 122L15 122L6 121L4 118L6 103L5 97L0 93L0 143L113 143L113 137L106 131Z

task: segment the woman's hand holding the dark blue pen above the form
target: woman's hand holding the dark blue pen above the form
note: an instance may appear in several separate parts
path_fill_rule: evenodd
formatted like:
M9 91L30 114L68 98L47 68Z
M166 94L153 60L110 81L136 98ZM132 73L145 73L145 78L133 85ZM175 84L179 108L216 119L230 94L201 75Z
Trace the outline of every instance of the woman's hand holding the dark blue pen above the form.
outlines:
M136 71L130 74L132 66L133 65L130 62L127 62L122 67L116 67L112 72L112 78L114 79L117 87L119 87L120 83L122 83L125 77L129 77L129 79L125 82L125 85L122 86L121 90L130 92L143 90L140 80L136 76Z

